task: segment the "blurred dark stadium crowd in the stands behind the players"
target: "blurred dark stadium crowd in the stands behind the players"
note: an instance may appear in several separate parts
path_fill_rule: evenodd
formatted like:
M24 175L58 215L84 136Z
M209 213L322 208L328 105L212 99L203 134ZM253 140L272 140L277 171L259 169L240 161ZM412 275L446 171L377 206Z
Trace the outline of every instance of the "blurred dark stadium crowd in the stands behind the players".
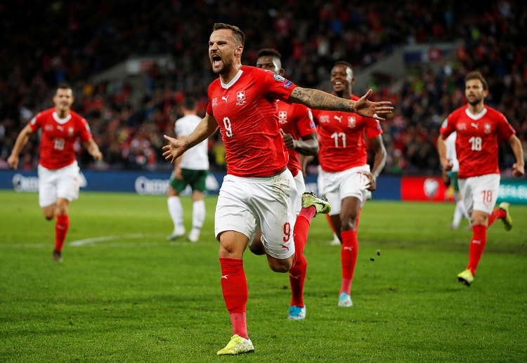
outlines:
M185 95L198 98L204 112L207 86L216 77L207 71L214 22L245 32L245 64L254 65L259 48L275 48L287 77L324 91L330 91L323 80L336 60L351 62L360 74L401 46L461 41L455 56L438 60L438 67L422 63L408 67L403 79L372 79L374 98L396 107L382 124L384 173L441 173L439 125L464 102L464 74L470 70L483 72L490 85L486 103L507 116L527 151L527 8L519 1L483 7L453 0L426 6L404 0L18 0L0 5L0 20L0 169L8 168L20 129L34 112L51 107L51 92L60 81L74 87L73 109L89 120L104 155L93 161L79 147L82 168L171 169L162 158L162 135L174 133ZM126 79L91 81L133 56L161 54L173 62L164 68L152 64L140 87ZM142 95L137 101L136 93ZM36 169L38 145L37 140L26 145L21 169ZM221 140L212 138L213 170L225 167L223 152ZM510 158L503 144L500 165L512 165Z

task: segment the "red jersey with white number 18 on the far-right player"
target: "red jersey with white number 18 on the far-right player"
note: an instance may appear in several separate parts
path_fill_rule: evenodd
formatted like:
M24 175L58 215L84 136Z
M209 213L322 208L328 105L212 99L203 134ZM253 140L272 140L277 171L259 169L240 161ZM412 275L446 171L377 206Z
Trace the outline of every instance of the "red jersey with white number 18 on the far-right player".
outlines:
M441 125L445 138L457 131L455 151L460 162L458 178L499 174L498 140L508 140L516 131L501 112L486 106L471 114L467 106L453 111Z

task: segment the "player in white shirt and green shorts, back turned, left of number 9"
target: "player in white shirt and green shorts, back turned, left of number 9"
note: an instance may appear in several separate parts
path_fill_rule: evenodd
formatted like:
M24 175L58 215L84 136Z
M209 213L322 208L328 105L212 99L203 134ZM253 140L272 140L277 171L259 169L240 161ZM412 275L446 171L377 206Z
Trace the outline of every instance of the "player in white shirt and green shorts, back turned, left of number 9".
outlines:
M197 116L197 100L187 97L181 105L183 117L176 120L174 131L178 140L185 140L200 124L201 117ZM205 220L204 192L207 190L207 176L209 175L209 145L207 139L193 147L190 152L181 155L174 162L174 171L169 180L167 204L170 217L174 223L174 231L167 237L169 241L185 235L183 225L183 206L179 194L190 185L192 190L192 229L188 234L190 242L197 242Z

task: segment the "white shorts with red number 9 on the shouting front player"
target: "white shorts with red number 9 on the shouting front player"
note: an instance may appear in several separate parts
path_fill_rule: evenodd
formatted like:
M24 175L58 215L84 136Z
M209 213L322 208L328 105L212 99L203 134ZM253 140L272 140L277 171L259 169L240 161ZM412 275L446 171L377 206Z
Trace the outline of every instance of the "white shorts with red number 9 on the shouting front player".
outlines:
M214 234L233 230L254 239L261 230L261 242L269 256L280 260L294 254L293 228L298 199L288 169L266 178L242 178L227 174L219 190L214 216Z

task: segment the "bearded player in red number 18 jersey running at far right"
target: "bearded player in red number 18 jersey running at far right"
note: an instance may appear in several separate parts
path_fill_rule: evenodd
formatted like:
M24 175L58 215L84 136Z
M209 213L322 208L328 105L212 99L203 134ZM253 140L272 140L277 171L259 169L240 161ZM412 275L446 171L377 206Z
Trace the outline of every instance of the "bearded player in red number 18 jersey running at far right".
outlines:
M454 110L441 125L438 154L445 171L453 168L447 157L446 138L457 132L455 150L460 163L458 180L465 209L471 216L472 238L467 268L457 279L470 286L487 242L487 228L501 219L505 230L512 228L509 204L502 202L494 209L500 190L500 169L497 154L499 140L508 140L516 157L512 165L514 176L523 176L525 164L521 142L516 131L501 112L485 105L488 84L481 72L469 72L464 79L467 105Z

